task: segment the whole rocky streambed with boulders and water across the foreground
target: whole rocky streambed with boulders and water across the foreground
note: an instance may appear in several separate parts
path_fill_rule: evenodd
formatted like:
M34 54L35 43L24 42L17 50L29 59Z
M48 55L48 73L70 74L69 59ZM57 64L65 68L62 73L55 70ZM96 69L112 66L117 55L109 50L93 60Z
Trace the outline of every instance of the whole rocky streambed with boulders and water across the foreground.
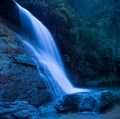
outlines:
M75 119L84 119L85 117L86 119L88 117L97 119L112 113L114 113L113 116L120 117L119 103L120 95L107 90L65 95L40 107L30 105L26 101L0 102L0 118L72 119L75 116Z

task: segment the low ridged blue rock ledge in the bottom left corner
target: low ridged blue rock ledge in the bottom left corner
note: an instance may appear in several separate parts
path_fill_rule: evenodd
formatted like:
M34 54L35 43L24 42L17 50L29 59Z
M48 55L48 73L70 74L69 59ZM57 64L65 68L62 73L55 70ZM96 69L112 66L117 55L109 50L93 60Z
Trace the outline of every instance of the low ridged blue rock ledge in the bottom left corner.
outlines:
M42 119L39 111L26 101L0 102L0 119Z

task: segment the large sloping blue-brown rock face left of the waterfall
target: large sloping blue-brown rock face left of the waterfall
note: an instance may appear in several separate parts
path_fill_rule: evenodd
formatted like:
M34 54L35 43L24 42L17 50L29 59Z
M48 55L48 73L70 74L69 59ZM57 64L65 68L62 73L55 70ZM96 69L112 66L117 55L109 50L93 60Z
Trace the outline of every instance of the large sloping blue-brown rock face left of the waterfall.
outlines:
M26 49L0 18L0 101L26 100L39 106L51 100Z

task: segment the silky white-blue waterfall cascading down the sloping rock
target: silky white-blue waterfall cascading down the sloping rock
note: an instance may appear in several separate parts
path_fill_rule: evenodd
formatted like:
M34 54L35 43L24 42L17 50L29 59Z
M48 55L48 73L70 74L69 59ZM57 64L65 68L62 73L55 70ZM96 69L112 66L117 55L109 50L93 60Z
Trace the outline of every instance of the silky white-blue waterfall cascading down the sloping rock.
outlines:
M65 93L85 91L74 88L68 80L60 54L48 29L18 3L16 6L20 12L22 32L24 33L23 36L18 34L17 36L36 62L39 74L44 77L50 93L62 96Z

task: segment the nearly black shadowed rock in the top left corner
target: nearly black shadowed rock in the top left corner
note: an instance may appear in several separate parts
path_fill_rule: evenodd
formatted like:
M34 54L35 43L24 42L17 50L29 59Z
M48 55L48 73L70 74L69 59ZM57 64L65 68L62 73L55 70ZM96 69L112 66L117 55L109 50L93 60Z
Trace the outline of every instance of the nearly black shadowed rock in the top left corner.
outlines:
M0 16L4 17L10 23L10 27L20 31L20 15L14 0L1 0Z

